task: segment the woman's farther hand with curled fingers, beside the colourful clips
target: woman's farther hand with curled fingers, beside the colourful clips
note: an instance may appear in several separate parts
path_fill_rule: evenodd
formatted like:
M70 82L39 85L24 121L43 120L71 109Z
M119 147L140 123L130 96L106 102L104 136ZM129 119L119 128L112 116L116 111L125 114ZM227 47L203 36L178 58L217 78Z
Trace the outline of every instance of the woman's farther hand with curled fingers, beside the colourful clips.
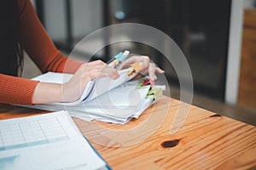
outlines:
M148 72L149 79L152 81L155 81L157 77L155 76L155 72L157 73L164 73L165 71L161 70L159 67L157 67L154 63L150 62L150 59L148 56L132 56L129 59L126 59L122 65L119 66L119 70L128 68L133 63L143 63L143 70L140 71L141 74L145 75Z

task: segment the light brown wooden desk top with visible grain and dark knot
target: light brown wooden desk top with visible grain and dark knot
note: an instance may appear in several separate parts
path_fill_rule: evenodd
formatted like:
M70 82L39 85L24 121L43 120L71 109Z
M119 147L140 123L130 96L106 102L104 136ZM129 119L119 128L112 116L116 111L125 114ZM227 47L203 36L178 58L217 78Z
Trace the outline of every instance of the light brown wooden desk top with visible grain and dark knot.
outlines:
M114 137L102 137L101 128L94 129L96 133L90 135L90 142L113 169L247 169L256 166L256 127L192 106L183 127L171 135L170 127L179 105L182 107L183 103L163 97L138 120L132 120L125 126L73 119L87 137L90 135L89 128L94 125L118 131L129 130L148 120L149 116L158 122L160 115L154 115L168 111L164 122L153 135L131 146L115 148L96 144L94 139L111 144ZM0 119L6 119L46 111L0 105L0 112ZM132 141L135 135L131 133L130 136ZM165 144L169 147L164 147Z

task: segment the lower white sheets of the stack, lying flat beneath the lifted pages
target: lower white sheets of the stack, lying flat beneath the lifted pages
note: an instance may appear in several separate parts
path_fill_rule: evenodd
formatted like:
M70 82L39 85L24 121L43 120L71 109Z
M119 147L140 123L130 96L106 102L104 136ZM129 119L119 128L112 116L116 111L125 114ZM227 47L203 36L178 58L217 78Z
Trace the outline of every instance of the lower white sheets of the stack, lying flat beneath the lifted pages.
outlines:
M96 99L82 102L79 105L27 105L47 111L67 111L71 116L79 117L85 121L99 120L125 124L131 118L137 118L153 101L146 99L148 88L137 89L137 82L125 82L118 88L113 88L108 93Z

